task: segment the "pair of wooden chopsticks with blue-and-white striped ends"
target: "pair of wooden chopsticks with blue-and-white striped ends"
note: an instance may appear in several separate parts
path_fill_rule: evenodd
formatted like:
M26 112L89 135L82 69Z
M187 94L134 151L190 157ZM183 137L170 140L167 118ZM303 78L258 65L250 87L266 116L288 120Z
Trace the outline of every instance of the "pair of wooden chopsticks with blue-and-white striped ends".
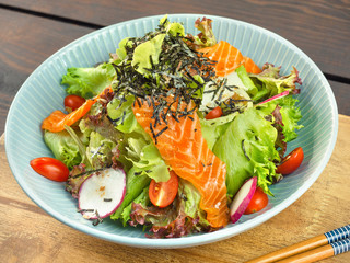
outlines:
M246 263L308 263L350 251L350 225L283 248Z

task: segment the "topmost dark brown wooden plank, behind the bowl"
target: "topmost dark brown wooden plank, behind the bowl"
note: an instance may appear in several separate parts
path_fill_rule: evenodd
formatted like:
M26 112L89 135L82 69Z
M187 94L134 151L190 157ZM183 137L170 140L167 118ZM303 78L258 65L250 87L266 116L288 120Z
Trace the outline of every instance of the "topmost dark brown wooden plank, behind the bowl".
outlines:
M349 0L12 0L11 3L0 0L0 3L101 25L164 13L228 16L280 34L304 50L323 71L350 78Z

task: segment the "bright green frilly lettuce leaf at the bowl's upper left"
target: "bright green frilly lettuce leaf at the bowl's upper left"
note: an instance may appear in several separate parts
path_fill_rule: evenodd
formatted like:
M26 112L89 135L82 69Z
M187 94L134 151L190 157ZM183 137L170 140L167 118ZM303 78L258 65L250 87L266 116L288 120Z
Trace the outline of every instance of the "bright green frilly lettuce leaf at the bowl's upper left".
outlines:
M67 93L85 99L100 94L115 76L112 64L101 64L95 68L69 68L61 84L67 84Z

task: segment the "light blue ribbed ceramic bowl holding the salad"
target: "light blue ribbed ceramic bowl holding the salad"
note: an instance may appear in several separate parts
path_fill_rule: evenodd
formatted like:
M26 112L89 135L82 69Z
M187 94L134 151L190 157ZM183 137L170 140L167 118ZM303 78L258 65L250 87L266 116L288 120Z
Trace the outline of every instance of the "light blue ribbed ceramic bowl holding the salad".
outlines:
M43 62L24 82L9 111L5 125L5 150L10 168L23 191L49 215L84 233L143 248L184 248L223 240L273 217L295 202L316 181L332 152L338 130L338 112L331 89L317 66L298 47L261 27L225 18L206 15L213 20L217 39L228 41L258 66L266 61L282 66L289 73L292 66L303 80L298 96L302 108L299 138L288 151L303 147L305 159L300 169L273 185L276 195L262 211L243 216L234 225L210 233L198 233L178 239L147 239L141 228L121 227L105 220L97 227L77 213L77 202L65 191L63 184L51 182L35 173L30 161L36 157L52 156L42 137L40 123L55 110L63 110L66 95L60 85L61 76L69 67L88 67L108 59L120 39L142 36L154 30L160 18L151 16L112 25L83 36L63 47ZM195 20L202 14L172 14L171 21L183 22L188 33L197 34Z

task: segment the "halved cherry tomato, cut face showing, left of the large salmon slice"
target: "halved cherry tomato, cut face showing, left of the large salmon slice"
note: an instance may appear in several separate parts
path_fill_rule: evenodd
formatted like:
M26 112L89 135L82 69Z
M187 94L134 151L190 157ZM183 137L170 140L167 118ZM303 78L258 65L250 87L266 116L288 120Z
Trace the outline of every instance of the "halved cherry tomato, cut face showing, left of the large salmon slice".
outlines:
M166 207L173 203L177 195L178 190L178 178L174 171L171 171L171 178L166 182L156 183L152 179L149 196L154 206Z

